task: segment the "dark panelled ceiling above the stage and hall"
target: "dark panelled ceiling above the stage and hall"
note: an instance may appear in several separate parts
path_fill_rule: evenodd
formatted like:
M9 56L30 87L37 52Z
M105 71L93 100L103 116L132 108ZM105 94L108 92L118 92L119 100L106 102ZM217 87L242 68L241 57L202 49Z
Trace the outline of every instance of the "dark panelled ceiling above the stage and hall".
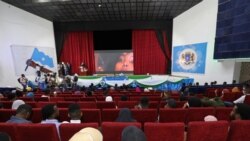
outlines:
M202 0L2 0L54 22L172 20Z

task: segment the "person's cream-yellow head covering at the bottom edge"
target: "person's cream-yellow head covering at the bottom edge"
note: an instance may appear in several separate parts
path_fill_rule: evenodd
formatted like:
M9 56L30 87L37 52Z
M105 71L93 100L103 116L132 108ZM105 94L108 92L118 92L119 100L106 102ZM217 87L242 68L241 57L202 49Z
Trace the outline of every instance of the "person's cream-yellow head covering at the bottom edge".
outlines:
M102 133L92 127L86 127L75 133L69 141L102 141Z

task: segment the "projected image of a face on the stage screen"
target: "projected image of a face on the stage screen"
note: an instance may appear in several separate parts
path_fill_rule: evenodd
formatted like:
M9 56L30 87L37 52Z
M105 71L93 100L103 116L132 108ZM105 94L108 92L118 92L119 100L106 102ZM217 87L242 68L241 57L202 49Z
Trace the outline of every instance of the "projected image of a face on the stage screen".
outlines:
M133 52L124 50L96 51L95 66L97 72L133 72Z

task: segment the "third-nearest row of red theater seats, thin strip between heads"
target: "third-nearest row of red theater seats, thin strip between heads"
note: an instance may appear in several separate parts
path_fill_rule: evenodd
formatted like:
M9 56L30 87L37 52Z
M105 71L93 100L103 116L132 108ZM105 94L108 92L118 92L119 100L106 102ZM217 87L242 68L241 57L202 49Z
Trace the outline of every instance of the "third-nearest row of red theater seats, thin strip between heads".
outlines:
M58 101L58 102L25 102L32 106L32 108L42 108L47 104L56 104L59 108L68 108L68 106L72 103L78 103L79 106L83 109L105 109L105 108L134 108L137 105L138 101L118 101L116 102L105 102L105 101L87 101L87 102L75 102L75 101ZM185 104L185 101L177 101L177 108L182 108ZM2 101L4 109L11 109L12 102L11 101ZM150 101L149 108L163 108L166 105L166 101Z

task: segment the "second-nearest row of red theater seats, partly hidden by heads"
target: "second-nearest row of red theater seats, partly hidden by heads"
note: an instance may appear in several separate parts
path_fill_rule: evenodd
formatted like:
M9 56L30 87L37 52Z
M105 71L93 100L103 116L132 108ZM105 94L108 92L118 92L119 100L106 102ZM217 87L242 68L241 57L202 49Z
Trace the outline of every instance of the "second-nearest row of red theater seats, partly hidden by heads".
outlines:
M82 122L105 122L115 121L119 115L119 109L81 109L83 112ZM232 108L189 108L189 109L131 109L132 116L141 123L145 122L183 122L203 121L207 115L214 115L218 120L230 121ZM7 121L15 110L0 109L0 122ZM39 123L42 120L41 108L33 108L31 121ZM69 121L68 109L59 108L59 120Z

